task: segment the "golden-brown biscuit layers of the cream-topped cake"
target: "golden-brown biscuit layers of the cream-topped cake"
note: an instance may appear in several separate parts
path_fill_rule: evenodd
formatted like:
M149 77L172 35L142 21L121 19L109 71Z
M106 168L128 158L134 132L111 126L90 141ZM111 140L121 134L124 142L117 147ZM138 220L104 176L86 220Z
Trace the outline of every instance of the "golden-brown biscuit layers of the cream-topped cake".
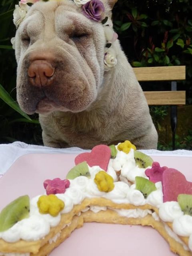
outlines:
M118 215L117 212L107 209L106 211L100 211L94 213L90 210L82 212L88 206L108 206L114 209L149 209L158 214L158 209L154 206L145 204L143 206L134 206L132 204L116 204L105 198L86 198L81 204L74 206L71 212L62 214L60 223L58 226L51 228L50 233L45 238L38 241L24 241L19 240L15 243L8 243L0 239L0 252L2 253L30 253L30 256L46 256L52 252L60 243L70 236L73 230L83 226L84 222L100 222L100 223L113 223L113 224L128 224L128 225L142 225L152 226L155 228L162 237L169 243L172 252L179 254L180 256L192 256L190 251L184 250L182 244L176 242L171 236L168 235L164 228L164 224L161 221L156 221L148 214L144 218L127 218ZM78 214L81 213L80 216ZM66 226L68 224L68 226ZM171 229L172 224L166 223ZM49 243L51 238L54 238L58 233L56 242ZM188 246L188 238L180 237L184 243Z

